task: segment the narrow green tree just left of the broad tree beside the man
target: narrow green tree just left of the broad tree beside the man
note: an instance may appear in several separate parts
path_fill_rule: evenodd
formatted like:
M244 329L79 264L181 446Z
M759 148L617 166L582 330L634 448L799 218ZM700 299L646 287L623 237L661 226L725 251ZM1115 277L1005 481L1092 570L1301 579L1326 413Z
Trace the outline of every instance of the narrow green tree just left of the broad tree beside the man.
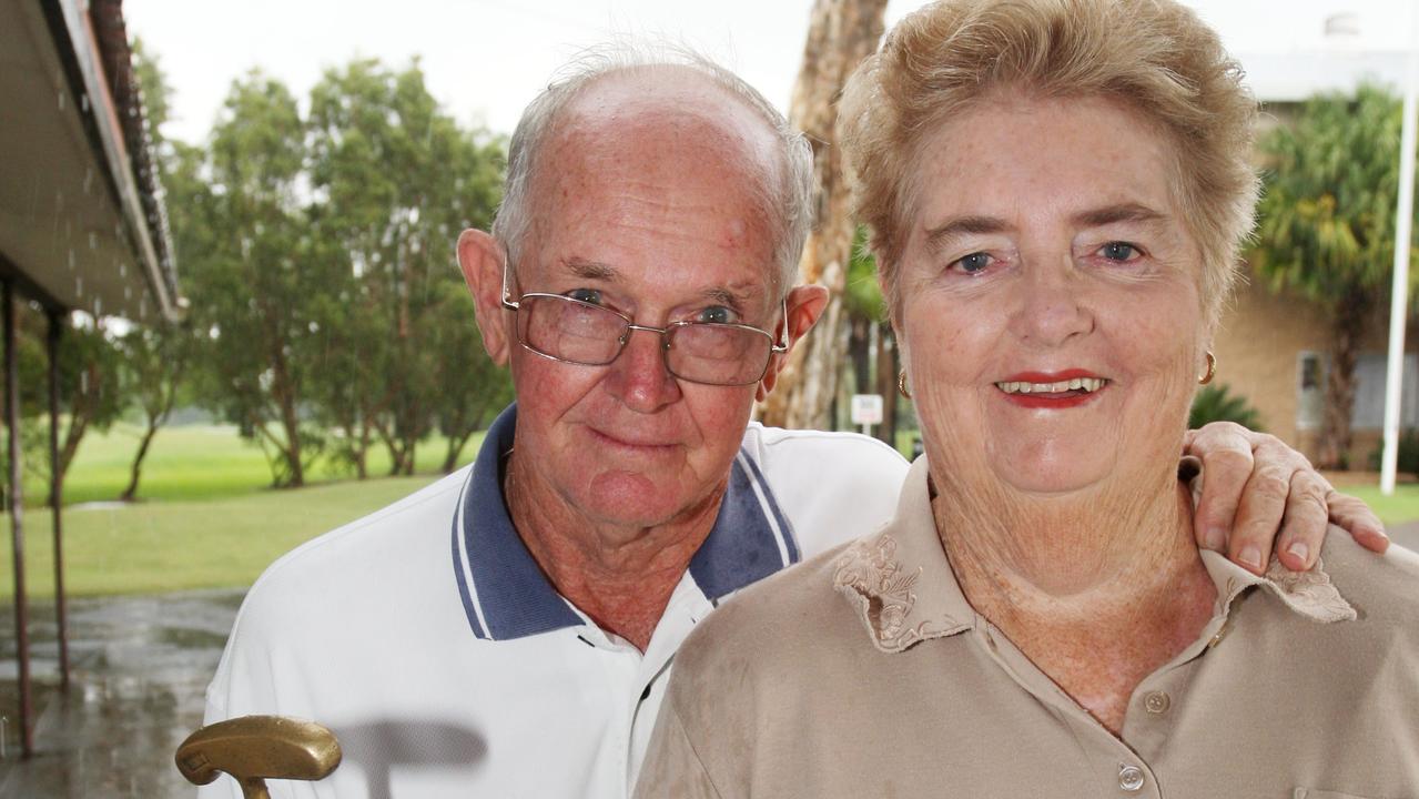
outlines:
M258 440L272 483L288 487L305 483L322 443L301 414L319 369L312 305L322 291L297 190L304 160L291 92L257 71L236 81L194 165L179 234L193 326L204 334L203 402Z

